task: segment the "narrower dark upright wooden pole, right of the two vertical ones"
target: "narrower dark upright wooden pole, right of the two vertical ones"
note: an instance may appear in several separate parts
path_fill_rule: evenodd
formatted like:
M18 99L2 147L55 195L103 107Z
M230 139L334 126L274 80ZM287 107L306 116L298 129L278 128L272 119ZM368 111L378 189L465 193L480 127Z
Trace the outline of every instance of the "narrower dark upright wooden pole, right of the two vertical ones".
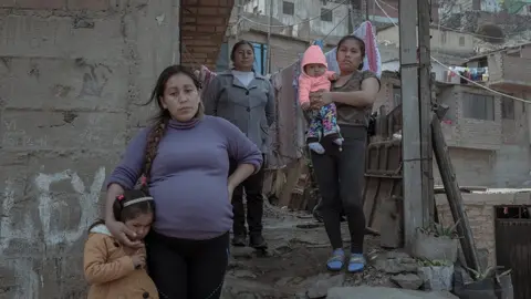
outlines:
M434 151L431 143L431 55L429 32L431 1L418 0L418 49L419 49L419 70L418 70L418 95L419 95L419 116L420 116L420 167L421 196L424 209L424 226L434 220L435 197L434 197Z

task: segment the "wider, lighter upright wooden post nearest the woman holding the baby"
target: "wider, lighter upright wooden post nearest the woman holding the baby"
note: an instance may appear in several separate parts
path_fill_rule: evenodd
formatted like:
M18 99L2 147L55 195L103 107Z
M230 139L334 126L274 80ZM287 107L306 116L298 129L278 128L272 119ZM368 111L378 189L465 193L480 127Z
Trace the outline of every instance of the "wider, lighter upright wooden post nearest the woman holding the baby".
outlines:
M418 103L418 63L416 16L417 0L399 2L400 81L403 111L403 165L404 165L404 241L410 250L416 229L423 226L423 195L418 190L423 179L420 165L420 130ZM414 17L415 16L415 17Z

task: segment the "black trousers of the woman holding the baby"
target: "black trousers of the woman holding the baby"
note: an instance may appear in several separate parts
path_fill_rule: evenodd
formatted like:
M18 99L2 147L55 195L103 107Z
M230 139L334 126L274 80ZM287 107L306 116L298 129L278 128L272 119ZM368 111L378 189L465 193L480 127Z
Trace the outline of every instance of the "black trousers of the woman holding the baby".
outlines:
M343 248L341 214L344 212L351 233L351 250L363 252L365 215L363 213L363 182L367 131L362 126L342 126L343 151L325 136L321 144L325 153L312 152L321 203L317 212L323 218L333 249Z

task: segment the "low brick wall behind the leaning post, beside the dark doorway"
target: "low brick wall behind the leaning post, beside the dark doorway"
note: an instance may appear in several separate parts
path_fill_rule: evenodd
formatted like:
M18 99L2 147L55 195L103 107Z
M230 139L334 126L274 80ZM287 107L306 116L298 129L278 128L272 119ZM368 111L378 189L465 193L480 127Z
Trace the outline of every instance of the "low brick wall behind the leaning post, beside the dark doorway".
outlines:
M465 212L472 230L476 247L487 252L490 266L496 265L494 207L503 205L529 205L531 193L504 192L499 194L462 194ZM454 223L445 195L437 195L439 218L446 225ZM480 256L479 258L483 258Z

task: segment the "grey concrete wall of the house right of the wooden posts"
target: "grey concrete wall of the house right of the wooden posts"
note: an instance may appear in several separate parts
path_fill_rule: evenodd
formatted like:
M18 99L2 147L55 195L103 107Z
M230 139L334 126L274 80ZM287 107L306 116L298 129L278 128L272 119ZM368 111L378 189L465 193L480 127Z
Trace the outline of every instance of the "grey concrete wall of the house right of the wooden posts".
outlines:
M501 116L501 99L494 97L494 121L465 118L464 92L488 93L481 89L456 85L441 91L438 99L448 104L451 123L442 130L461 185L520 187L529 183L531 151L529 147L529 113L521 102L514 102L514 120ZM514 96L525 99L525 93ZM436 184L441 184L438 172Z

